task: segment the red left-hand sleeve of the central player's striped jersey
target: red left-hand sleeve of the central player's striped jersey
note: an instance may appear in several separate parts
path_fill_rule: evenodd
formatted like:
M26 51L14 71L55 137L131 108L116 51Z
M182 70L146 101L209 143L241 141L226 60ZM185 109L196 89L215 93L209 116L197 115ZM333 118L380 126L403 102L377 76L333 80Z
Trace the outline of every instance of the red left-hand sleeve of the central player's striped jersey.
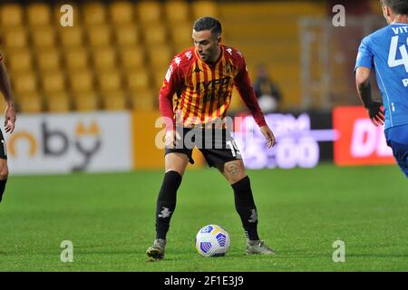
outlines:
M166 131L174 128L173 95L180 90L183 83L180 59L175 57L167 70L159 93L159 108L166 125Z

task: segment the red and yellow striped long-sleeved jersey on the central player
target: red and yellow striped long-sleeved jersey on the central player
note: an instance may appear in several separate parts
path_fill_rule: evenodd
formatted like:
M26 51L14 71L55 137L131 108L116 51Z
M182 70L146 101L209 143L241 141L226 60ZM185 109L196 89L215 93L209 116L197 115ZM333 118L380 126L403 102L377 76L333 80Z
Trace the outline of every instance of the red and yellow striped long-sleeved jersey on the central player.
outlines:
M177 123L188 128L223 120L234 85L257 124L265 125L242 53L221 45L218 61L205 63L191 47L176 55L170 63L160 89L161 115L172 120L173 126ZM175 102L174 94L177 94ZM169 125L166 126L168 130L173 128Z

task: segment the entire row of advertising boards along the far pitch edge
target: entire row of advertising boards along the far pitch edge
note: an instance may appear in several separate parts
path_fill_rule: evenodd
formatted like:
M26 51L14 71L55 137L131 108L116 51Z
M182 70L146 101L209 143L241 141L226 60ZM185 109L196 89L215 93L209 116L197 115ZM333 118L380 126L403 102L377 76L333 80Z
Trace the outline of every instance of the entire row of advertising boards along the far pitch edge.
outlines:
M333 111L282 112L265 116L277 145L267 149L251 116L236 115L233 131L248 169L314 168L393 164L384 128L376 128L362 107ZM239 121L237 121L239 118ZM5 134L13 174L163 169L164 137L159 111L21 114L13 134ZM195 164L206 166L199 150Z

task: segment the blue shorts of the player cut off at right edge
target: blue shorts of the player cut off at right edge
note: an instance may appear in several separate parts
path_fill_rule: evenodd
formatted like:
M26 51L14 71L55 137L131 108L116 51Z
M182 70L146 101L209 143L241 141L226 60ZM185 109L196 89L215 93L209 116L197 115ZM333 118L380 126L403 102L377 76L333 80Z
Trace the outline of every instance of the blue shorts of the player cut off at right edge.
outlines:
M385 139L393 149L393 157L408 178L408 125L385 130Z

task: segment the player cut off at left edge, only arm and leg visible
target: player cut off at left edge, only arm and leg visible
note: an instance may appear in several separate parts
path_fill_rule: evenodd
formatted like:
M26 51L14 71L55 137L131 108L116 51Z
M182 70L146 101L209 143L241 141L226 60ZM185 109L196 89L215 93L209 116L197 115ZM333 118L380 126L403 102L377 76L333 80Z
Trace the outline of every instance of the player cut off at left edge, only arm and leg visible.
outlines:
M0 92L3 93L6 102L5 109L5 132L15 131L15 101L11 90L8 74L3 63L3 56L0 54ZM8 177L7 150L5 149L5 138L0 130L0 202L5 193L5 183Z

